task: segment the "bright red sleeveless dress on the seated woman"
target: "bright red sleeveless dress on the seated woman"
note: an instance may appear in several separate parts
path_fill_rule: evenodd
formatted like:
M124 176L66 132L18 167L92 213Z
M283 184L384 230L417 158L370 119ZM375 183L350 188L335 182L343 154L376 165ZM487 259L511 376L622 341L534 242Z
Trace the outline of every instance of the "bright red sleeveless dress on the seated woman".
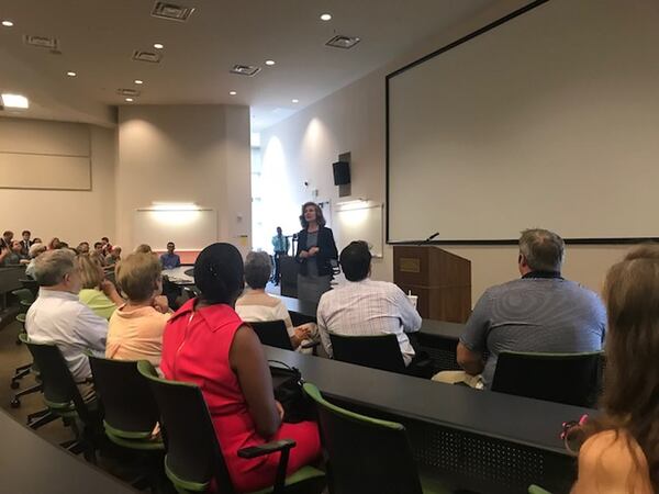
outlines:
M187 302L167 323L160 369L167 379L192 382L201 388L235 489L249 492L271 485L279 462L279 453L239 458L241 448L269 440L294 440L297 446L290 452L288 473L316 460L321 441L313 422L282 424L271 438L256 433L228 361L234 335L243 321L228 305L211 305L193 312L193 302Z

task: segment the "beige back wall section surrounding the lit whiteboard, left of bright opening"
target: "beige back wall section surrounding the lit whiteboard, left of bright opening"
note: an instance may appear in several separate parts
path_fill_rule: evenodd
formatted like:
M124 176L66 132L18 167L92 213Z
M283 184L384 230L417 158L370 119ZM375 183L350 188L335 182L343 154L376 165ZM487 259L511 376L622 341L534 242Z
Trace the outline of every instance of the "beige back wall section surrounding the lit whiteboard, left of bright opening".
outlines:
M246 251L249 175L248 108L121 106L118 242L130 249L142 243L133 232L135 210L154 202L193 202L217 211L217 240Z

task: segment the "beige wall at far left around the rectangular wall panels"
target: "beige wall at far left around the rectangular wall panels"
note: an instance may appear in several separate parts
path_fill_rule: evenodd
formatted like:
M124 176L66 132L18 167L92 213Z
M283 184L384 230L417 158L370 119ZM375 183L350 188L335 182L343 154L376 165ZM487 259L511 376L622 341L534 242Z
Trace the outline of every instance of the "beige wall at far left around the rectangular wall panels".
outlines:
M16 126L16 136L25 136L32 146L52 144L59 135L58 122L2 119L3 128ZM89 125L91 134L91 190L19 190L0 189L0 229L20 236L30 229L33 236L48 242L57 236L76 246L81 240L113 238L115 132Z

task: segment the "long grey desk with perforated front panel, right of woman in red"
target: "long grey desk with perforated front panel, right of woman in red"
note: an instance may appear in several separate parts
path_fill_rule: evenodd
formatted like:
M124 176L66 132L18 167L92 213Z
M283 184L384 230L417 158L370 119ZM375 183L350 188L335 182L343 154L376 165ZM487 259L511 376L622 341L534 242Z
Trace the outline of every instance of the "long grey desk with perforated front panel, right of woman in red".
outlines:
M561 424L595 413L265 348L331 400L403 423L424 472L481 493L522 494L532 483L569 492L576 463L559 438Z

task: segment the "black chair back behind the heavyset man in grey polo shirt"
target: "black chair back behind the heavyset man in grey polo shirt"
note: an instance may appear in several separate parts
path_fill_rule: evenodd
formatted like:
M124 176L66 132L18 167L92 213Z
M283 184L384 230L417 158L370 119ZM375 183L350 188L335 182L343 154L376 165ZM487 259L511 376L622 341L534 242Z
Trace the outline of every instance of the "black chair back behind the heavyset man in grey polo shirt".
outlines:
M502 351L492 391L567 405L592 407L602 383L603 353Z

